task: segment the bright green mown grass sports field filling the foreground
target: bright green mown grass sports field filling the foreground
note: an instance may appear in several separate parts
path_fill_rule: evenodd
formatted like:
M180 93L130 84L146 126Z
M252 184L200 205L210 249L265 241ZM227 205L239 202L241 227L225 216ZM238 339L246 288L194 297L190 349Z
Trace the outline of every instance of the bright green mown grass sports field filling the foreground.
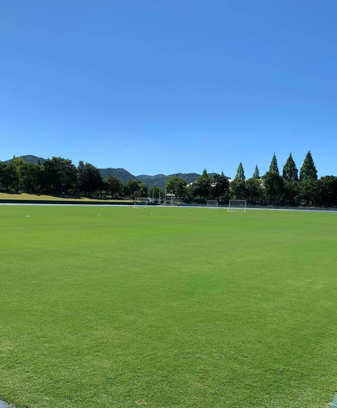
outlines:
M324 408L337 391L335 213L2 206L0 228L0 399Z

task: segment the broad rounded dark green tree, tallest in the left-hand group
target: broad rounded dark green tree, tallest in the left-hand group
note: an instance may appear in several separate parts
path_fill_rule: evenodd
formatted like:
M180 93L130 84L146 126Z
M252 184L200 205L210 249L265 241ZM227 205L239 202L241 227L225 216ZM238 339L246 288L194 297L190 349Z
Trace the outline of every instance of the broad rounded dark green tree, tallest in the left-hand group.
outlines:
M67 188L73 188L77 181L77 169L69 159L52 157L45 160L44 189L53 193L62 193L62 180L65 180Z

